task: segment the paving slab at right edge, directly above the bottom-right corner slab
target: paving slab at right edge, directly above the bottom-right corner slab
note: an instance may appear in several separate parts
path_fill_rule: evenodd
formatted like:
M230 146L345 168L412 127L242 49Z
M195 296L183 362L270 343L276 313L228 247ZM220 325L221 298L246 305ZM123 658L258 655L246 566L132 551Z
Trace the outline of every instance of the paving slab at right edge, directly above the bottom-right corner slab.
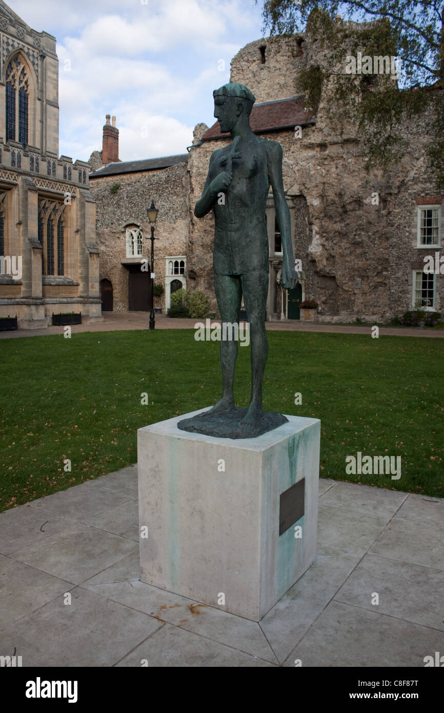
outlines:
M366 555L334 599L444 631L443 592L440 570Z

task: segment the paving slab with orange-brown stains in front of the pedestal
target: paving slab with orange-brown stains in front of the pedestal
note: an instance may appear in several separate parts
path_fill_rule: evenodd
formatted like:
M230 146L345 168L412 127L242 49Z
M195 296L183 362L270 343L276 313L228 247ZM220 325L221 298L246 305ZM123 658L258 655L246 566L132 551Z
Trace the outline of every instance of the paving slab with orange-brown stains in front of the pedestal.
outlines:
M277 663L257 622L167 592L143 582L83 585L115 602L133 607L187 631Z

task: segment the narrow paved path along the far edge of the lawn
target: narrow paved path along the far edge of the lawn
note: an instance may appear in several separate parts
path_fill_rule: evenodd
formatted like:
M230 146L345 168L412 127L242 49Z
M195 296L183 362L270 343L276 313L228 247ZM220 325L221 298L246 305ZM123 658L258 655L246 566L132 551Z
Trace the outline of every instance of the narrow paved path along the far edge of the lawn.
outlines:
M103 322L74 324L72 334L78 332L122 332L128 329L148 329L149 312L103 312ZM194 329L196 322L202 319L175 319L156 314L155 329ZM205 322L205 319L203 320ZM217 319L212 319L215 324ZM371 325L358 324L314 324L300 322L299 319L289 319L283 322L267 322L267 331L289 332L330 332L335 334L371 334ZM13 332L0 332L0 339L17 339L18 337L45 337L47 334L63 334L63 327L47 327L46 329L16 329ZM379 327L379 335L383 337L432 337L443 338L444 329L419 329L418 327Z

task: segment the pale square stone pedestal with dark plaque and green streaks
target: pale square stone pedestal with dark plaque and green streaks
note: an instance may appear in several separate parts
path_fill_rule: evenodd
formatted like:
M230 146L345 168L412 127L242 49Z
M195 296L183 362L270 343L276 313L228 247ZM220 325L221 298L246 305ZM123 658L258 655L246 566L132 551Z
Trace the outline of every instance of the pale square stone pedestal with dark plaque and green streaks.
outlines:
M316 557L321 422L177 429L197 413L138 430L140 580L259 621Z

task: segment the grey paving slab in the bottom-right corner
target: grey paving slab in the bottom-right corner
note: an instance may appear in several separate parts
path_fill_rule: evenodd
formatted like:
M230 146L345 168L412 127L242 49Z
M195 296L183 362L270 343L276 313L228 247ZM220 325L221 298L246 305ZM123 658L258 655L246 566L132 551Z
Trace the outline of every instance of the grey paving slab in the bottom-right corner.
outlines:
M423 667L425 656L443 650L442 631L330 602L284 666Z

